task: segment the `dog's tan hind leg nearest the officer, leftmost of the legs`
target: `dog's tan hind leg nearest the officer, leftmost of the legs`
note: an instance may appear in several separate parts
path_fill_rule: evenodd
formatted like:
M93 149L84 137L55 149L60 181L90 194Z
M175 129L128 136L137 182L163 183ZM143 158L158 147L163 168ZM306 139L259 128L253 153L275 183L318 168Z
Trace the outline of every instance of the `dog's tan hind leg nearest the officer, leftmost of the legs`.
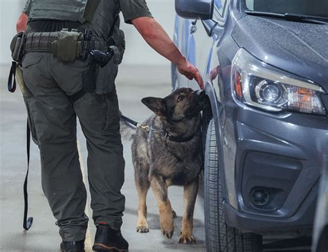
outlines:
M142 171L142 170L141 170ZM139 195L138 206L138 223L136 231L139 233L149 232L149 226L147 224L147 192L149 190L150 182L148 180L148 174L145 171L135 176L136 188Z

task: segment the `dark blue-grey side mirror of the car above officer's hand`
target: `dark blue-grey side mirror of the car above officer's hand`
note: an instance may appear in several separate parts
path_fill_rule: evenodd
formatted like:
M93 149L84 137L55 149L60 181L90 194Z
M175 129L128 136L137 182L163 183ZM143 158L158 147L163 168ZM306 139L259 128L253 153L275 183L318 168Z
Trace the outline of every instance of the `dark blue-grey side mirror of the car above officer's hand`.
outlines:
M212 19L214 0L175 0L175 10L185 19Z

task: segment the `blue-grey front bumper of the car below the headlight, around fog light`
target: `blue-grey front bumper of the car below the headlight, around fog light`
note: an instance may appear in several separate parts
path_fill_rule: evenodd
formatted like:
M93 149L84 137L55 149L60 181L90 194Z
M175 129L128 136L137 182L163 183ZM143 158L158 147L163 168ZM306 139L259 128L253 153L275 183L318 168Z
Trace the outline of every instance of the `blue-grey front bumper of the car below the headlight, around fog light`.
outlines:
M233 113L223 126L226 222L262 234L311 229L328 117L244 106ZM255 204L256 189L266 191L266 204Z

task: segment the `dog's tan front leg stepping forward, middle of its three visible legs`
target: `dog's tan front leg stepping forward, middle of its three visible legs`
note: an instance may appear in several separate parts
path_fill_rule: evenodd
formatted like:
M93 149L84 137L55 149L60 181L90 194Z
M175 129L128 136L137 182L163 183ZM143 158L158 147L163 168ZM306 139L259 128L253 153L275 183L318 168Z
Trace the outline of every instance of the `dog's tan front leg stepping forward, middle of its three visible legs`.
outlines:
M173 211L167 196L167 184L163 177L158 176L150 176L150 184L158 204L161 231L163 235L171 239L174 232Z

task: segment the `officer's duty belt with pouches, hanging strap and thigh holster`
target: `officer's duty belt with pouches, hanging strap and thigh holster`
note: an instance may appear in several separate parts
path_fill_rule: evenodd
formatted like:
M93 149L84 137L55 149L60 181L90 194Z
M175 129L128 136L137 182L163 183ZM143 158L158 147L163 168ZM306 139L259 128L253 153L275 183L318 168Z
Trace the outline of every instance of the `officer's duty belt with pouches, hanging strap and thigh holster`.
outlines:
M109 93L113 89L118 64L122 61L124 53L124 49L119 50L116 44L107 45L104 40L93 36L91 30L85 30L84 33L78 30L19 32L12 39L10 49L14 60L8 78L10 92L15 92L17 64L21 64L25 53L51 52L62 62L88 60L90 67L82 76L84 90L76 96L78 99L84 93L95 92L99 95Z

